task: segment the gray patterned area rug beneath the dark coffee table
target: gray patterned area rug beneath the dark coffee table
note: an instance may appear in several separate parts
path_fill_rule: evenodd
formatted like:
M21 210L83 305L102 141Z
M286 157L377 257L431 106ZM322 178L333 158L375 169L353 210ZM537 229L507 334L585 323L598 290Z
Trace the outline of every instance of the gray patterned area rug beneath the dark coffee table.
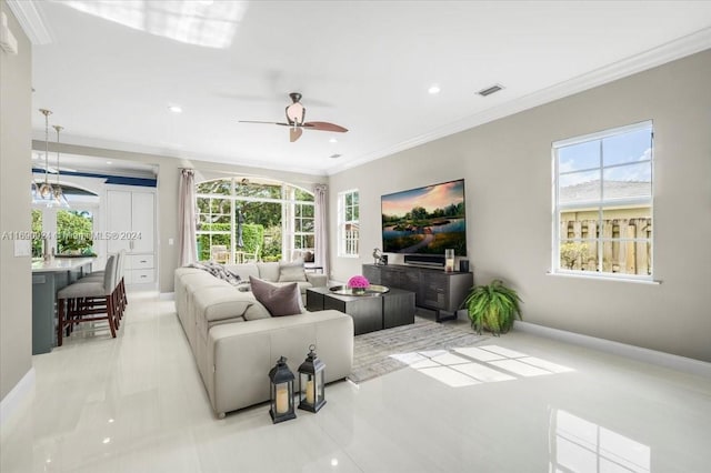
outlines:
M348 379L359 384L407 366L390 356L393 354L473 346L487 339L468 325L437 323L415 315L413 324L356 336L353 370Z

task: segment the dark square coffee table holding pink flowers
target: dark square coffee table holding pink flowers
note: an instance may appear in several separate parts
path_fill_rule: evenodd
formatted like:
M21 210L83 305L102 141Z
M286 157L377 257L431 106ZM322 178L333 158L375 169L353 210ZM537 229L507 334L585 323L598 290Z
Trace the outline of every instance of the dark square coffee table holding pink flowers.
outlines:
M414 292L371 285L364 294L343 286L307 289L307 310L334 309L353 319L354 334L414 323Z

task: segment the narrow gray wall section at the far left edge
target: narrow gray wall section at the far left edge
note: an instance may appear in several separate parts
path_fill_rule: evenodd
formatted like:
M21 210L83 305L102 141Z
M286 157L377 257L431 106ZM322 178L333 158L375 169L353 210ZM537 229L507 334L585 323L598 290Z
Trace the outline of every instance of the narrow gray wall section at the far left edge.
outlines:
M17 56L0 51L0 232L31 229L30 155L32 53L4 0L0 9L18 40ZM14 241L0 242L0 399L32 368L30 256L14 258Z

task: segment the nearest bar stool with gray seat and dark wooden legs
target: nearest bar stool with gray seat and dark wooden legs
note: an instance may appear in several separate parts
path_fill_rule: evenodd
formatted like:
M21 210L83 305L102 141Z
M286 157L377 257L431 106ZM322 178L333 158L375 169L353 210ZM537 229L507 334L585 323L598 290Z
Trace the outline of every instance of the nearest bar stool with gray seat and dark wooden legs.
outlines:
M57 346L62 345L66 328L71 330L76 324L100 320L109 323L111 336L116 339L119 301L117 272L118 256L111 255L107 261L103 281L79 280L57 293Z

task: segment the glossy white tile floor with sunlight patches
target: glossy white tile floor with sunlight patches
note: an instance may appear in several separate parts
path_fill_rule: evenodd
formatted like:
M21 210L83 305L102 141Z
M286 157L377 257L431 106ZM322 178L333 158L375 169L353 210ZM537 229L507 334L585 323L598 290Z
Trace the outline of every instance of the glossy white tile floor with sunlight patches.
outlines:
M0 471L711 471L711 380L520 332L402 354L410 368L329 385L318 414L220 421L173 303L130 296L118 339L34 358Z

